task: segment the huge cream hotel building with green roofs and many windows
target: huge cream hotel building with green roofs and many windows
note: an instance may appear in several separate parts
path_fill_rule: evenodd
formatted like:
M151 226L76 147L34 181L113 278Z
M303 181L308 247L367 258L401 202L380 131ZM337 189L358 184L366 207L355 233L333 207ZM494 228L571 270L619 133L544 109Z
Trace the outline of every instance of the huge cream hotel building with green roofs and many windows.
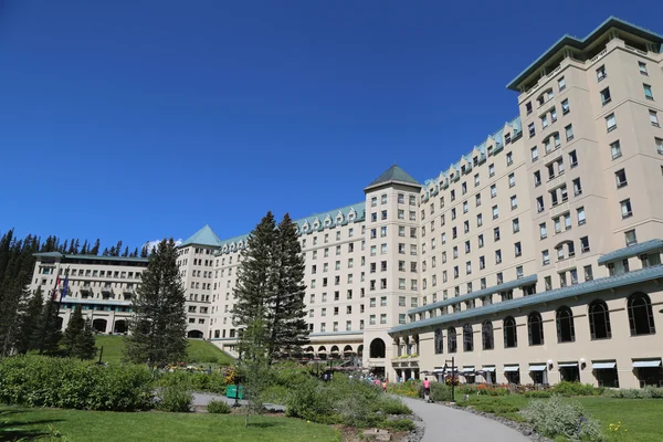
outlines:
M440 175L394 165L297 221L311 357L357 354L390 379L453 357L469 382L663 383L663 36L610 18L508 88L518 116ZM246 236L206 225L179 245L189 335L231 354ZM82 303L126 330L146 260L38 259L33 290L70 269L64 322Z

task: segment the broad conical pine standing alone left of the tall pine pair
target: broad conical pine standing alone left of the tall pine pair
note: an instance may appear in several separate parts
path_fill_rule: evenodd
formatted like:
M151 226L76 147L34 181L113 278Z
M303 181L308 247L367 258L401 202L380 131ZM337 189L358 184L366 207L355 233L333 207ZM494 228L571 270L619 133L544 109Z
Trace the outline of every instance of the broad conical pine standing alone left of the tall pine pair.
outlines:
M134 319L126 338L125 352L134 362L162 366L185 359L187 314L185 287L177 267L172 239L161 241L149 256L143 283L131 299Z

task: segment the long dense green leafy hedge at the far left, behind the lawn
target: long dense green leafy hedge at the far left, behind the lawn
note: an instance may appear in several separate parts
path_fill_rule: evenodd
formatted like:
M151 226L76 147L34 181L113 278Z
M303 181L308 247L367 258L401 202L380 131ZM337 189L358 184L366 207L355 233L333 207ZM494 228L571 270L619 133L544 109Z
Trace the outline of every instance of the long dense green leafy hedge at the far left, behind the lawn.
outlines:
M0 360L0 402L99 411L149 410L151 373L144 366L98 366L75 359L15 356Z

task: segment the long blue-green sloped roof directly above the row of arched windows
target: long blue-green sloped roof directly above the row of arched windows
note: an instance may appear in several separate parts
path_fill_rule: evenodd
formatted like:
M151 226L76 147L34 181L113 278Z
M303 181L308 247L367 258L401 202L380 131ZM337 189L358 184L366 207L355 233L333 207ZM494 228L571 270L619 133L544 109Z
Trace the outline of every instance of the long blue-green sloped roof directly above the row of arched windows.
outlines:
M552 291L538 293L535 295L517 297L511 301L504 301L487 305L485 307L471 308L452 313L450 315L435 316L428 319L415 320L409 324L399 325L389 330L390 334L418 329L422 327L440 326L443 324L455 323L457 320L476 318L492 315L499 312L508 312L517 308L540 305L554 301L567 299L569 297L582 296L600 291L623 287L630 284L643 283L663 277L663 265L654 265L635 272L623 273L621 275L601 277L599 280L588 281L585 283L556 288Z

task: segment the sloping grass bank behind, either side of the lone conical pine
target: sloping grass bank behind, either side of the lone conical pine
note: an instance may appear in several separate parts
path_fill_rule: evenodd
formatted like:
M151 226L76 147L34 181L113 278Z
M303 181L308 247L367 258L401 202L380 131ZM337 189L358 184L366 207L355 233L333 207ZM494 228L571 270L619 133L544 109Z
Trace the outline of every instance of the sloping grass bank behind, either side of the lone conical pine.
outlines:
M104 354L102 355L103 361L119 364L123 360L123 336L97 335L96 346L97 348L104 346ZM213 344L210 344L206 340L190 339L187 362L204 365L231 365L234 362L234 360Z

